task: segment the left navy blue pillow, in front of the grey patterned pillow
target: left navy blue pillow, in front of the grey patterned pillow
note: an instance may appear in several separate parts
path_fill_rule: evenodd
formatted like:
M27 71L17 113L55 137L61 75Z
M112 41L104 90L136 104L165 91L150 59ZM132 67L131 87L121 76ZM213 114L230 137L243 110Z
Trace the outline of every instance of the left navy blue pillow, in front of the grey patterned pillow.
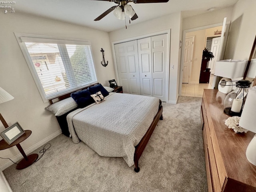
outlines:
M76 101L79 108L84 108L95 102L87 89L74 92L71 94L71 97Z

